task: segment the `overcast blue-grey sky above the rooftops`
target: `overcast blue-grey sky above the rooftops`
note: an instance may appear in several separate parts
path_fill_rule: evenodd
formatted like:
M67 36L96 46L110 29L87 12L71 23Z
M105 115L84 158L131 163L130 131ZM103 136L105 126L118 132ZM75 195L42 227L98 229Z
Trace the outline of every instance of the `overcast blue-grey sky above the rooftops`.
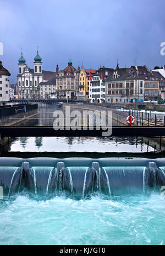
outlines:
M33 68L37 45L43 70L68 65L149 69L165 64L160 54L165 41L164 0L0 0L0 60L17 82L21 48Z

